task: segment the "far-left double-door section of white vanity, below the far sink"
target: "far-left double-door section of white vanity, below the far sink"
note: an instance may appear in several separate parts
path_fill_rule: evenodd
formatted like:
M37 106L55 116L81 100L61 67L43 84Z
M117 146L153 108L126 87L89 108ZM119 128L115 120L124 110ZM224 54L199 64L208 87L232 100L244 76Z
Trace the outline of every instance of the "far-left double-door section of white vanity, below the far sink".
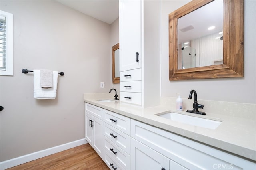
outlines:
M85 103L85 138L102 158L103 149L103 109Z

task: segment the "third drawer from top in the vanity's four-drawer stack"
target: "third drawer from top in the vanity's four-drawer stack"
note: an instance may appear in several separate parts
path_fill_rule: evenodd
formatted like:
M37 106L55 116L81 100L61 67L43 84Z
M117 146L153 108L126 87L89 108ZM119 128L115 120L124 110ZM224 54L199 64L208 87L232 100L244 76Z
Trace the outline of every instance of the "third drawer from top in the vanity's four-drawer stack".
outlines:
M130 169L130 155L104 136L105 152L126 170Z

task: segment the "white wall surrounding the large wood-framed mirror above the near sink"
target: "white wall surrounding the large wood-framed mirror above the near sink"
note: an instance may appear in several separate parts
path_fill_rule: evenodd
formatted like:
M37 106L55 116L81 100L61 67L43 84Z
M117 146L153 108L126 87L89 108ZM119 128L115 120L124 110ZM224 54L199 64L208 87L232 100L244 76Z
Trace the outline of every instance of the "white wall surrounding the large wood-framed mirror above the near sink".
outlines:
M161 96L187 98L195 89L198 99L256 103L256 1L244 1L244 77L169 81L168 14L189 1L161 1Z

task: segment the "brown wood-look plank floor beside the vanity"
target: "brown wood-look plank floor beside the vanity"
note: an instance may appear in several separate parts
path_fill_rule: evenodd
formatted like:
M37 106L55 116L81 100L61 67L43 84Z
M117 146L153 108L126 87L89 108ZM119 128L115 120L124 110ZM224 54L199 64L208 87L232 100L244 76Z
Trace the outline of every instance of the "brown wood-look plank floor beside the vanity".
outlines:
M109 170L109 168L87 143L8 170Z

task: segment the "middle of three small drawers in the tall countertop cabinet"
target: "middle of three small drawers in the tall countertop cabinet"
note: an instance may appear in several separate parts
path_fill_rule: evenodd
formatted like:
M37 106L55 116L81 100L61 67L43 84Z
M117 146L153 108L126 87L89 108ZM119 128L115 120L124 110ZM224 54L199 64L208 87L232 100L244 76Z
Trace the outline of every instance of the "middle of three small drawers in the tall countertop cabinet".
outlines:
M141 93L141 81L120 82L120 91Z

